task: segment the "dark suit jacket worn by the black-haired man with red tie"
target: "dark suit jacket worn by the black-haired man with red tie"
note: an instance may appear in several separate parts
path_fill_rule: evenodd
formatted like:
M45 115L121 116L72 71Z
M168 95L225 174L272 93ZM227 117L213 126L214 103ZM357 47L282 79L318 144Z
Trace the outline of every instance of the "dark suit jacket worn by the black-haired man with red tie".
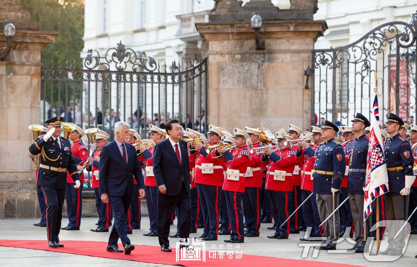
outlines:
M187 192L190 193L188 185L191 184L191 180L187 142L179 140L178 144L180 145L181 166L169 139L158 143L153 151L153 175L156 179L156 185L165 184L166 195L168 196L180 194L183 179ZM157 191L158 194L161 194L159 190Z

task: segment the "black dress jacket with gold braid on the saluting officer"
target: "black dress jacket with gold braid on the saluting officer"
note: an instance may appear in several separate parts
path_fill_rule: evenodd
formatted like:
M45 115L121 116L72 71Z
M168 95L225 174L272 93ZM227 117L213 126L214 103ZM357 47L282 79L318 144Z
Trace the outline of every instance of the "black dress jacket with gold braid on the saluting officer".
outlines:
M62 136L60 136L60 141L61 147L59 147L56 141L53 141L52 137L46 141L43 140L43 137L38 137L36 142L29 147L29 151L33 155L40 155L40 164L54 168L66 168L71 178L74 181L79 181L80 175L71 153L70 141ZM65 189L67 186L67 172L40 168L36 185Z

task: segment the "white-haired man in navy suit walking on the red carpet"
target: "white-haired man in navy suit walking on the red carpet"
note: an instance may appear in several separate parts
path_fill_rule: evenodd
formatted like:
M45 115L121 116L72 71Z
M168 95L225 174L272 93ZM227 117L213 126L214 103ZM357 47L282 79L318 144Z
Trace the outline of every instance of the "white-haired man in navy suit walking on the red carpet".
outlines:
M136 149L126 143L129 124L124 121L117 122L114 132L115 140L101 149L98 173L101 200L103 203L110 202L114 217L107 251L123 252L117 246L120 237L125 254L131 254L135 247L127 236L125 218L133 195L133 176L139 186L140 198L145 197L145 184Z

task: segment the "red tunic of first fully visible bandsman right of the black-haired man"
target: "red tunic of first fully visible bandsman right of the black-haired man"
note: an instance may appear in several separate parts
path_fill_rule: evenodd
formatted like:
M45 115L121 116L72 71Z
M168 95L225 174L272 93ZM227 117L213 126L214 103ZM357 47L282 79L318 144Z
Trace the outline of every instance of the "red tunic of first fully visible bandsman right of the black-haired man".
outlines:
M214 146L219 144L219 142L210 143L209 146ZM194 154L191 154L191 161L195 161L195 170L194 170L194 183L196 184L207 184L213 186L222 186L224 180L224 159L216 159L215 151L204 156L197 151ZM213 173L203 173L204 172L211 172L210 168L212 168ZM246 170L245 170L246 171Z

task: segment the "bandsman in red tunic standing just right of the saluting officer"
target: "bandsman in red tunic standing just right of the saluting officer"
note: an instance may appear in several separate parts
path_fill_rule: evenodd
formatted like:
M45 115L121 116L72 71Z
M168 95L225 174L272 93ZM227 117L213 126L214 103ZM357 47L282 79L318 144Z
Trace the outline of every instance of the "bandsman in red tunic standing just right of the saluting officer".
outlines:
M71 146L71 152L73 153L74 161L78 164L78 166L83 166L84 162L88 158L87 147L85 147L85 144L81 142L82 136L84 136L83 129L81 129L78 125L75 125L75 130L70 133L70 139L71 141L73 141L73 144ZM81 212L83 209L81 192L83 191L84 174L80 174L80 179L81 186L75 189L74 180L71 178L67 170L67 191L65 192L65 199L67 201L69 222L67 227L61 228L63 230L80 229Z

